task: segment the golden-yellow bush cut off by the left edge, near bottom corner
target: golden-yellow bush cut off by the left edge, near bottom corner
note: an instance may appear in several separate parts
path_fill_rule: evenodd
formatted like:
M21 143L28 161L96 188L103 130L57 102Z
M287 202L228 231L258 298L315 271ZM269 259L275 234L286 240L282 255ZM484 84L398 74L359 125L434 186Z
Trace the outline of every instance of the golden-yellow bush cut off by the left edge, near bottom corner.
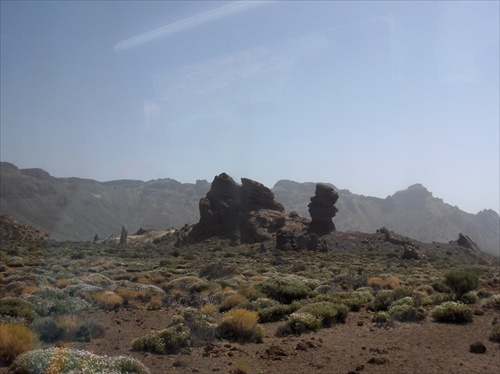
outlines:
M20 354L38 345L37 335L19 323L0 322L0 363L10 365Z

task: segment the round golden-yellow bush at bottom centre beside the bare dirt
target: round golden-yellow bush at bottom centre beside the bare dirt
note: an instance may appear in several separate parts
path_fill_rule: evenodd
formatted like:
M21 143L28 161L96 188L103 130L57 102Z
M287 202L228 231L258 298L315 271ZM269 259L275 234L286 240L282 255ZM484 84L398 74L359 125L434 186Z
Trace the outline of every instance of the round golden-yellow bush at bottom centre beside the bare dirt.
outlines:
M231 309L223 314L217 334L224 339L242 342L262 342L263 331L258 326L259 316L246 309Z

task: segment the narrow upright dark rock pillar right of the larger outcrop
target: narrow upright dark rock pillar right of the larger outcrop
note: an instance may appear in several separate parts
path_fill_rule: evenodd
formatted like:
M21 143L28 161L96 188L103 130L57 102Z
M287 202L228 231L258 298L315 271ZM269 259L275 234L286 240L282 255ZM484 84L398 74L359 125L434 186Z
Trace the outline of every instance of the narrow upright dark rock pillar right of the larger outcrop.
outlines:
M338 212L335 208L339 195L333 188L324 184L316 185L315 196L311 197L309 203L309 214L311 215L311 224L308 231L316 234L328 234L335 230L332 218Z

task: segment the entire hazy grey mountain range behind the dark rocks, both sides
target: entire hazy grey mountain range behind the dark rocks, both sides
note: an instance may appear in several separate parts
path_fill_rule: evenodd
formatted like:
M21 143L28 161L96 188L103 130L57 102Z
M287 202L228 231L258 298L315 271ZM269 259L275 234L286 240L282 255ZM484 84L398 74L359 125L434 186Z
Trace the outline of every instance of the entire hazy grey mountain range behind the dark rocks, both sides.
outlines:
M307 205L316 183L278 181L272 188L287 212L309 217ZM383 226L424 242L456 240L463 232L485 252L499 255L500 217L493 210L478 214L432 196L416 184L385 199L356 195L338 189L334 218L340 231L374 232ZM180 183L172 179L148 182L117 180L97 182L55 178L42 169L18 169L0 163L0 213L41 228L57 240L92 240L140 227L180 228L199 220L198 203L210 183Z

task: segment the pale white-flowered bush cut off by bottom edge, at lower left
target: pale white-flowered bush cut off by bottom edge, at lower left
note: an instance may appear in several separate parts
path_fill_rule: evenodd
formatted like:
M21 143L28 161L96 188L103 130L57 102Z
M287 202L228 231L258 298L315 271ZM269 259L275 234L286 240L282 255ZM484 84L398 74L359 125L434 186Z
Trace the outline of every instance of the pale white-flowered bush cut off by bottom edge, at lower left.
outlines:
M98 356L69 348L39 349L24 353L16 358L12 369L19 374L150 373L140 361L129 356Z

